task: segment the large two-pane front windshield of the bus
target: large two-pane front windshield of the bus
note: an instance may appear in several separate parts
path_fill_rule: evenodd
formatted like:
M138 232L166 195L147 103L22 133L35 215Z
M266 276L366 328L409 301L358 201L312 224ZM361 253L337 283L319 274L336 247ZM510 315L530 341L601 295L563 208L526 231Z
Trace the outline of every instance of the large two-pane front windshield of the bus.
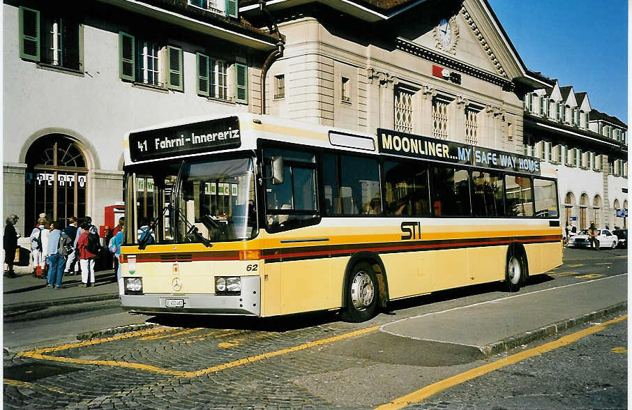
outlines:
M252 158L154 162L128 172L126 186L135 188L126 192L128 203L137 206L134 215L128 210L127 243L208 245L255 237L254 172Z

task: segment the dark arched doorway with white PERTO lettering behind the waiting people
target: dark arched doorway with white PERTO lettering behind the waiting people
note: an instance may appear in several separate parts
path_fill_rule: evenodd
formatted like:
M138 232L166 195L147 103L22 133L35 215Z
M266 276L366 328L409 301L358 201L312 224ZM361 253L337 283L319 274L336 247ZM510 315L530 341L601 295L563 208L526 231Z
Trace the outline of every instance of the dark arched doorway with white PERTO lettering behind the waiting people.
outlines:
M86 215L88 169L73 139L61 134L40 137L29 147L26 162L27 229L40 213L55 220Z

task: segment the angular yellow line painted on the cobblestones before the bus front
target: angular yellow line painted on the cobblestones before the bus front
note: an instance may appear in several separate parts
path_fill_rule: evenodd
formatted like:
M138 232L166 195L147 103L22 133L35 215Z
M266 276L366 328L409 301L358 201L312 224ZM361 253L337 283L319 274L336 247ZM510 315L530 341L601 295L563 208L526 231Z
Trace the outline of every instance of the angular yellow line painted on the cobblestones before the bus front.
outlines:
M130 333L128 335L119 335L119 336L114 336L114 337L108 337L107 339L94 340L94 341L90 341L90 342L64 344L63 346L49 347L47 349L38 349L38 350L33 350L33 351L23 351L23 352L19 353L18 356L30 357L30 358L39 359L39 360L51 360L51 361L63 362L63 363L75 363L75 364L79 364L79 365L100 365L100 366L128 367L130 369L143 370L145 372L153 372L153 373L158 373L158 374L170 374L170 375L176 376L176 377L187 377L187 378L190 378L190 377L199 377L199 376L202 376L204 374L209 374L209 373L213 373L213 372L219 372L220 370L230 369L231 367L238 367L238 366L241 366L241 365L246 365L247 363L253 363L253 362L256 362L256 361L259 361L259 360L263 360L263 359L266 359L266 358L271 358L271 357L280 356L280 355L283 355L283 354L292 353L294 351L301 351L301 350L304 350L304 349L310 349L311 347L320 346L321 344L328 344L328 343L332 343L332 342L337 342L338 340L344 340L344 339L348 339L349 337L354 337L354 336L358 336L358 335L363 335L365 333L370 333L370 332L377 331L378 328L379 328L379 326L372 326L370 328L360 329L359 331L353 331L353 332L345 333L343 335L327 337L326 339L316 340L315 342L308 342L308 343L300 344L299 346L289 347L287 349L281 349L281 350L277 350L277 351L271 351L269 353L258 354L257 356L250 356L250 357L243 358L243 359L240 359L240 360L234 360L234 361L232 361L230 363L224 363L222 365L216 365L216 366L213 366L213 367L207 367L206 369L195 370L195 371L192 371L192 372L184 372L184 371L181 371L181 370L168 370L168 369L163 369L162 367L156 367L156 366L151 366L151 365L144 365L142 363L119 362L119 361L116 361L116 360L78 359L78 358L69 358L69 357L49 356L49 355L45 355L44 354L44 353L49 353L49 352L52 352L52 351L59 351L59 350L70 349L71 347L89 346L90 344L98 344L98 343L103 343L103 342L107 342L107 341L110 341L110 340L124 339L126 337L133 337L134 335L139 335L140 333L146 334L149 331L134 332L134 333ZM170 329L153 329L153 331L155 331L155 332L156 331L167 331L167 330L170 330Z

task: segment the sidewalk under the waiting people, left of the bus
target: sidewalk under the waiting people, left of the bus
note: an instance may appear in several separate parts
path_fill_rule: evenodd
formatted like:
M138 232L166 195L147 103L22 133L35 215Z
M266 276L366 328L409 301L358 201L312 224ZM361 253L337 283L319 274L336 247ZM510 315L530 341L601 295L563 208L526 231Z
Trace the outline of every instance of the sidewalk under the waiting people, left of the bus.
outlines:
M17 278L3 277L4 321L22 321L119 305L119 285L112 270L98 271L93 287L79 287L81 275L64 275L64 289L46 287L29 268L16 266Z

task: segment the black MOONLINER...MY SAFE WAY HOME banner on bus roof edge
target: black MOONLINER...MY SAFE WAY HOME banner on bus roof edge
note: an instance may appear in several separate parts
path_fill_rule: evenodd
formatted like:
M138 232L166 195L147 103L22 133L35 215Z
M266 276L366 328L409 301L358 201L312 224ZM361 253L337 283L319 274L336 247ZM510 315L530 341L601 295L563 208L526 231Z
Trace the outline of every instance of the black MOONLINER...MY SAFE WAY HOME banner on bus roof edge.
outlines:
M380 153L540 175L540 161L527 155L382 128L377 129L377 147Z

